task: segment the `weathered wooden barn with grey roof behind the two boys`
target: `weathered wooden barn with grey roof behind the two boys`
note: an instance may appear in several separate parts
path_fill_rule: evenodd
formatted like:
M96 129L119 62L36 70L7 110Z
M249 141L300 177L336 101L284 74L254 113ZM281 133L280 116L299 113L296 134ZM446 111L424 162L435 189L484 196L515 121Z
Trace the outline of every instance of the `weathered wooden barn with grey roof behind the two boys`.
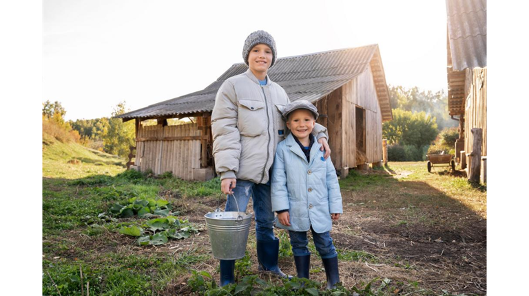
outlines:
M211 111L216 93L227 78L247 69L242 62L234 64L201 91L116 116L136 120L136 169L171 171L187 180L215 177ZM291 101L309 100L318 107L318 123L329 129L339 174L382 165L382 122L393 114L378 45L278 58L268 75ZM185 117L194 120L176 126L167 122ZM147 119L158 124L144 126Z

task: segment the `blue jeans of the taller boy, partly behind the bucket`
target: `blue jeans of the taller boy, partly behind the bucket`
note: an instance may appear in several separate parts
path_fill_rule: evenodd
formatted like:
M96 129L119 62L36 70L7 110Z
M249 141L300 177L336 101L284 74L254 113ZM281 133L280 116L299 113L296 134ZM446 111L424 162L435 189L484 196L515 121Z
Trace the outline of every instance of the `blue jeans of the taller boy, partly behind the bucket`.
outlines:
M257 184L237 179L233 192L233 195L230 194L228 196L225 211L236 212L238 204L240 212L246 212L251 194L253 198L253 213L256 218L257 240L275 240L276 236L273 235L273 220L275 216L272 212L270 181L266 184ZM237 203L234 201L234 196Z

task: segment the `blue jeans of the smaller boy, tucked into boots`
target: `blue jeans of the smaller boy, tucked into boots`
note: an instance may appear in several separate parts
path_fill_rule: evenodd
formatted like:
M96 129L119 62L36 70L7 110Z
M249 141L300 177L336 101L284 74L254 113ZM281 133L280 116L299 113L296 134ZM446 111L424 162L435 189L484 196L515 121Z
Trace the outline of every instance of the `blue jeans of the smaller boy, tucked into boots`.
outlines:
M318 250L318 253L320 253L322 259L334 258L338 256L329 231L324 232L323 234L317 234L314 229L312 229L312 226L311 231L316 250ZM289 231L289 234L292 252L295 256L311 254L309 248L307 248L307 245L309 244L309 240L307 239L307 231Z

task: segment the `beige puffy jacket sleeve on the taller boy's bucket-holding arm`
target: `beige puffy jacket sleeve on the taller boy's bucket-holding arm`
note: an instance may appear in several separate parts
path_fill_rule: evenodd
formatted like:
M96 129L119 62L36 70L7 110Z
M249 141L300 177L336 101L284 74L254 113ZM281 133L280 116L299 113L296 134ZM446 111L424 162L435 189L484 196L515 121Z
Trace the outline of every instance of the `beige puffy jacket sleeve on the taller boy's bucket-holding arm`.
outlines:
M218 89L211 113L213 156L220 179L236 178L240 159L240 133L237 128L238 106L234 84L226 80Z

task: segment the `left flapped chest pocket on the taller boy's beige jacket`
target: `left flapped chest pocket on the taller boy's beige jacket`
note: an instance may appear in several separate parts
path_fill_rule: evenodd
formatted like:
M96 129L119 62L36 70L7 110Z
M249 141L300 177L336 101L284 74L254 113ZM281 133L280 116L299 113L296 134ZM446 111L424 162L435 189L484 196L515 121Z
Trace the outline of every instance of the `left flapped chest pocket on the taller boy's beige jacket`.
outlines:
M264 102L239 100L237 126L240 135L255 137L265 135L267 126L267 109Z

